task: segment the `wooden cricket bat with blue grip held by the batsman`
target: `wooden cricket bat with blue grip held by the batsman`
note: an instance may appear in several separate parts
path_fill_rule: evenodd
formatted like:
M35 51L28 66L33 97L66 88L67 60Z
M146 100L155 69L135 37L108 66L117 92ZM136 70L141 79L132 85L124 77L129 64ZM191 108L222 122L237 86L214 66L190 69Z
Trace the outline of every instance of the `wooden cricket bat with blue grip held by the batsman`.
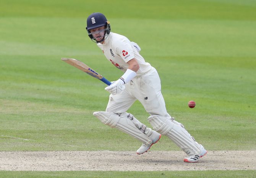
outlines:
M81 71L86 72L87 74L91 75L92 77L101 80L102 82L106 83L107 85L111 85L111 82L109 80L105 79L102 75L95 72L91 67L87 66L86 64L82 63L81 61L78 61L76 59L71 58L62 58L62 61L70 64L71 66L74 66Z

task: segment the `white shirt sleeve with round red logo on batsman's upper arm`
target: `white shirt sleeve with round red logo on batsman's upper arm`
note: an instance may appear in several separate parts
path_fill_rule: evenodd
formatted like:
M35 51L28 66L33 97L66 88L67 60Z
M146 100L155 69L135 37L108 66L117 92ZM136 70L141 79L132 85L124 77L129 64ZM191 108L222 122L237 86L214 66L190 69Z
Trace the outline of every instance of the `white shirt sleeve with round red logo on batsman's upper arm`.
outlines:
M113 47L115 53L119 55L125 63L134 58L133 48L131 47L131 42L128 38L122 36L122 38L113 40Z

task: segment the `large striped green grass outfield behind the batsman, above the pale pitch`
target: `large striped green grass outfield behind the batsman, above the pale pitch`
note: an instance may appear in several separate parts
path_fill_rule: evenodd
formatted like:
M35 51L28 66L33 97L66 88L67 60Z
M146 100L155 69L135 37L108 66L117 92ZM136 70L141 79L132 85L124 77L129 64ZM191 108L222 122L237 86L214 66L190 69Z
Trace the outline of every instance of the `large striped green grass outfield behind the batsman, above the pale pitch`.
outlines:
M141 55L159 72L168 112L205 148L255 150L255 1L100 3L96 8L83 0L0 2L0 151L139 148L137 140L92 115L105 110L109 96L105 84L60 60L79 59L110 81L122 75L87 36L86 18L94 11L107 16L112 32L140 45ZM194 109L187 106L190 100L196 102ZM150 126L140 103L128 112ZM163 137L151 150L179 148ZM97 173L90 172L91 176ZM204 176L203 172L179 173ZM251 176L253 172L238 173ZM34 176L37 172L0 174Z

